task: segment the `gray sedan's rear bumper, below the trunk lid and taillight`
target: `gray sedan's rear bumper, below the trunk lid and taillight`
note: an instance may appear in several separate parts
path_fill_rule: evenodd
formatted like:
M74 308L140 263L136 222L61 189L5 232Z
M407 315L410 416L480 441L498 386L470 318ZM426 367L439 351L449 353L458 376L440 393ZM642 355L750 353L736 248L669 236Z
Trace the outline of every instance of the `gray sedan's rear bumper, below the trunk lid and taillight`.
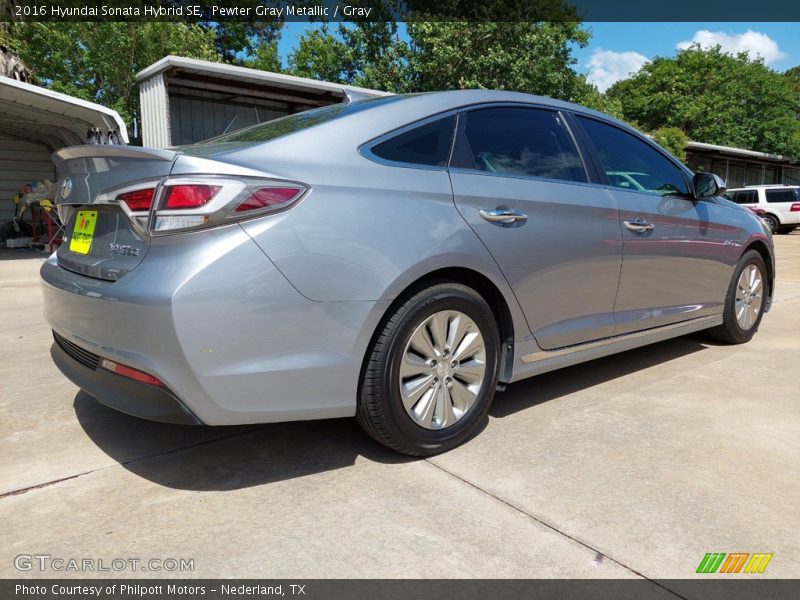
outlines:
M57 347L53 358L67 377L113 408L172 422L352 416L365 349L386 308L308 300L237 225L154 238L117 281L73 273L54 256L41 276L53 331L156 377L167 391L120 383L103 369L87 373Z

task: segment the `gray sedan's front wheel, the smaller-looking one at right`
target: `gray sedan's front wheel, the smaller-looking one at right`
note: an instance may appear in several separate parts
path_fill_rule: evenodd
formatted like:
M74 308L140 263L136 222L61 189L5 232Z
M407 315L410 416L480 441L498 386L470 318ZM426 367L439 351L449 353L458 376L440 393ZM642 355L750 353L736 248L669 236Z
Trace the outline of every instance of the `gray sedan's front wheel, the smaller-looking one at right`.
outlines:
M709 329L712 337L727 344L749 342L761 324L767 300L767 267L755 250L739 259L728 286L722 325Z

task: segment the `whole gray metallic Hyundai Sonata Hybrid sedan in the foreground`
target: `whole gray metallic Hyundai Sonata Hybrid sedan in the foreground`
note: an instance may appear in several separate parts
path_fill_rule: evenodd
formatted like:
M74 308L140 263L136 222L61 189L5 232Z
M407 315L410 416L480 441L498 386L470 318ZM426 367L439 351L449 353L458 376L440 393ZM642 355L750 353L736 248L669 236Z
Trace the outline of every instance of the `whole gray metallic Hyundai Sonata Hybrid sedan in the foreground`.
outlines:
M525 94L387 96L175 151L54 155L58 367L172 423L355 415L426 455L495 391L769 309L770 232L629 126Z

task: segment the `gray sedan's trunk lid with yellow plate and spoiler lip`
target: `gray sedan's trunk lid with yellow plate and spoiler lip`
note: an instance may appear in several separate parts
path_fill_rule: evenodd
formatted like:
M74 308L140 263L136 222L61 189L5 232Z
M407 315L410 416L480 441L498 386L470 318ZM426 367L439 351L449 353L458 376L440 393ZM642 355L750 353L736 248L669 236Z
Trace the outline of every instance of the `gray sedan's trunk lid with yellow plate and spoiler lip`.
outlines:
M65 223L58 264L116 281L144 258L149 236L114 201L115 190L169 174L176 152L130 146L73 146L53 154L55 203Z

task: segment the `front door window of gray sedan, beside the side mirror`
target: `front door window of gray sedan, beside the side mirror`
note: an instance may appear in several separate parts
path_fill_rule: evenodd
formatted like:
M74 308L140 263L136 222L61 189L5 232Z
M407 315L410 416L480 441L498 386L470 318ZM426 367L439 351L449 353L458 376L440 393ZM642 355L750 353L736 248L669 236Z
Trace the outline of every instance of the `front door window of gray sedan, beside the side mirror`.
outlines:
M614 187L665 195L687 195L680 169L658 150L630 133L578 116L592 140L600 162Z

